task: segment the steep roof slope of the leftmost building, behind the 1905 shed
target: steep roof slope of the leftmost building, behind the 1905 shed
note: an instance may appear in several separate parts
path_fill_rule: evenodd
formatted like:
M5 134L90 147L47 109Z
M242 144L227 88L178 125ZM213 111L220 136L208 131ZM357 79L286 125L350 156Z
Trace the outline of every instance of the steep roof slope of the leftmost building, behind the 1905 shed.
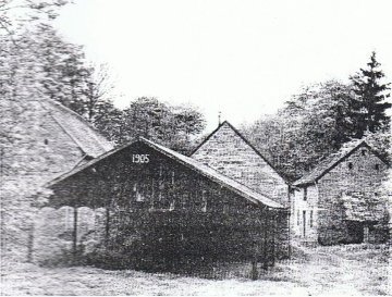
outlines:
M96 158L113 149L113 145L76 112L50 99L42 99L40 103L85 154Z

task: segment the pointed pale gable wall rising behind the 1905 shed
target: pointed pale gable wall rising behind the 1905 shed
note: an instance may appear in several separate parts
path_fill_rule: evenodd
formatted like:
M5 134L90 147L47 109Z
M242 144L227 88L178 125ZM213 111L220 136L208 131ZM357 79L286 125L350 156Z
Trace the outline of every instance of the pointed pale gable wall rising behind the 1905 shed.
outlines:
M192 158L287 205L289 188L284 180L228 123L223 123Z

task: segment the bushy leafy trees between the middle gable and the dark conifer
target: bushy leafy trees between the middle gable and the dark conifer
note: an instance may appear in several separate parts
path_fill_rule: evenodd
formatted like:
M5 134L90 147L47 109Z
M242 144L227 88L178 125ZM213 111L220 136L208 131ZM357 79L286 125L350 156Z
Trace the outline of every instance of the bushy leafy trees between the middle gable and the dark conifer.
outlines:
M278 170L295 180L351 139L351 98L350 86L336 81L306 86L245 134Z

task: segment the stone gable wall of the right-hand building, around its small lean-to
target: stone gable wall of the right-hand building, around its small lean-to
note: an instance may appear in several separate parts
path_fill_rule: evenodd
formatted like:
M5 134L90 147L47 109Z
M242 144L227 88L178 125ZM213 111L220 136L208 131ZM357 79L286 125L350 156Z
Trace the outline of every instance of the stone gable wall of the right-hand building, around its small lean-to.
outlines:
M368 199L375 199L375 193L379 190L385 172L387 165L368 148L360 147L319 180L317 186L320 243L336 244L350 239L344 221L342 194L362 191Z

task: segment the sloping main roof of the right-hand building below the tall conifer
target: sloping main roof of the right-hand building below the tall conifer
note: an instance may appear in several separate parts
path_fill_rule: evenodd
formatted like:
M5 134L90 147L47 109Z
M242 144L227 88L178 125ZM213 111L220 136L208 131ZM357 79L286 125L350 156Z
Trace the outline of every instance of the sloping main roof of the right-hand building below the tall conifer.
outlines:
M387 163L378 153L375 151L365 140L355 139L350 143L344 144L344 146L338 150L335 153L330 154L329 157L321 160L321 162L311 170L308 174L305 174L303 177L293 183L294 186L314 184L320 180L324 174L336 166L344 159L348 158L353 152L355 152L360 147L367 147L372 153Z

